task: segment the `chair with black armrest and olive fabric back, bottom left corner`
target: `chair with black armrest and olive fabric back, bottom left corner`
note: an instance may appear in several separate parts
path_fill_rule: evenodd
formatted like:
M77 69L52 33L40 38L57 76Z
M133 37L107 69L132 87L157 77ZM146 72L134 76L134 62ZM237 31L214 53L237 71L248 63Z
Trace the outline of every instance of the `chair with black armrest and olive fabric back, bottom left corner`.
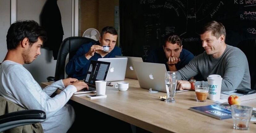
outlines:
M42 125L38 122L45 121L44 111L25 110L3 96L0 96L0 107L0 132L8 129L8 132L43 132Z

